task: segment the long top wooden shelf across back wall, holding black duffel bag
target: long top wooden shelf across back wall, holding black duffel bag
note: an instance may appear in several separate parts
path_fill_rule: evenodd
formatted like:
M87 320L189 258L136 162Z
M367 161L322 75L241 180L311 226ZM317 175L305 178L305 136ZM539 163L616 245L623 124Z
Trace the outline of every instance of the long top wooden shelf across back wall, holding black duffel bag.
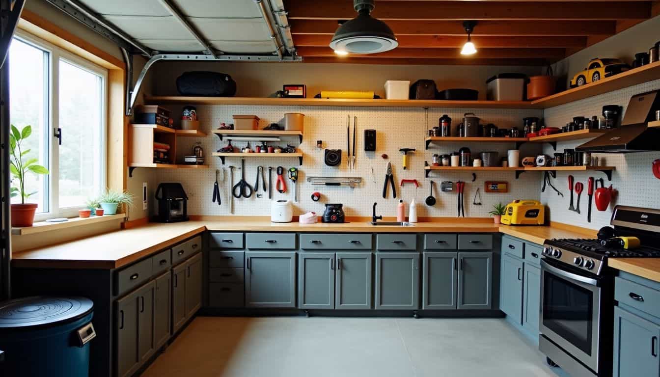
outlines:
M537 109L531 101L447 101L447 100L360 100L343 98L259 98L259 97L185 97L152 96L152 104L178 103L201 105L255 106L358 106L385 108L500 108Z

